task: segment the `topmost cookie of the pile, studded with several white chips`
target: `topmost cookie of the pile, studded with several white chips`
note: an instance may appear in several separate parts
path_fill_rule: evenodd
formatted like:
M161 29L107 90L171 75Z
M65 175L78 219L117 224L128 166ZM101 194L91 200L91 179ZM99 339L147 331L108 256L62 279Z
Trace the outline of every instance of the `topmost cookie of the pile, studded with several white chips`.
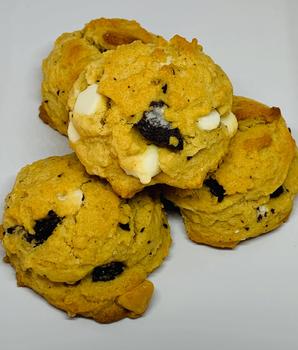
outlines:
M200 187L237 129L228 77L196 39L178 35L104 52L69 106L71 148L124 198L156 183Z

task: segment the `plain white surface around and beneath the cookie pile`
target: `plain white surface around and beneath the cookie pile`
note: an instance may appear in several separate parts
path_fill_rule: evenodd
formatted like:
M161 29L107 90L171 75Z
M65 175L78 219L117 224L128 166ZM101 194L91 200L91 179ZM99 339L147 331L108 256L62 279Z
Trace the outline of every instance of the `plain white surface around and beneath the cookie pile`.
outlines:
M234 93L280 107L298 140L297 13L296 0L0 0L1 210L23 166L70 151L67 138L38 118L41 61L61 33L118 17L166 39L196 37ZM179 216L170 216L173 244L149 277L149 309L110 325L69 319L17 288L14 270L1 261L0 348L297 349L297 213L296 200L287 223L234 250L191 242Z

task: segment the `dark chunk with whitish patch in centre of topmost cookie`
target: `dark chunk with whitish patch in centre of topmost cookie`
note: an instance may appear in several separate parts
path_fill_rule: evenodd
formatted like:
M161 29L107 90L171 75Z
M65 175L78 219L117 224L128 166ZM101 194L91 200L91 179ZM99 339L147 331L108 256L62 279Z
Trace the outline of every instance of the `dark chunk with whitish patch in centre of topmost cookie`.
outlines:
M183 140L178 128L172 128L163 115L163 101L153 101L150 109L143 114L143 118L136 124L140 133L149 141L160 143L174 150L183 150ZM177 145L170 144L170 138L177 139Z

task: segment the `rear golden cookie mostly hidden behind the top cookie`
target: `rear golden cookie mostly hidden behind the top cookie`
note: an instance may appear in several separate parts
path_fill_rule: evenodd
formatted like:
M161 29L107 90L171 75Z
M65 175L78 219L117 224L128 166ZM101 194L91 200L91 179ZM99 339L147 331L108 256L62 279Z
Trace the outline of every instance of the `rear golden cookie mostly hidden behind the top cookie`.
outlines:
M62 34L42 63L40 118L66 135L68 96L81 71L88 63L101 58L102 52L135 40L154 43L157 37L136 21L106 18L91 21L83 30Z

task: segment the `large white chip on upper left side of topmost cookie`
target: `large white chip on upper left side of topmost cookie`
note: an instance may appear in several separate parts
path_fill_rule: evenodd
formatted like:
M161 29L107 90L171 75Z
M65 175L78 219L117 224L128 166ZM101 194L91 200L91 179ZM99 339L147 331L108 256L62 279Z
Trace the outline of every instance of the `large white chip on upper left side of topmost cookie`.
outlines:
M98 94L97 89L98 85L92 84L80 92L74 106L74 112L92 115L97 111L98 105L105 105L105 97Z

